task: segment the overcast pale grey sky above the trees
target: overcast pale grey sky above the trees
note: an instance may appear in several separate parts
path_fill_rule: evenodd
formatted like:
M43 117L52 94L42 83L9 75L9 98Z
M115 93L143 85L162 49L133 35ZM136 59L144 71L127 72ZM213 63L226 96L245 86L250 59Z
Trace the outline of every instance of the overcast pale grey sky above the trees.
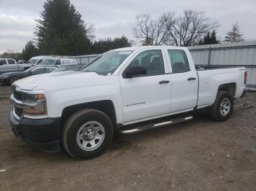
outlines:
M20 52L33 40L35 19L39 18L45 0L0 0L0 53ZM86 23L94 24L96 39L127 36L132 33L136 15L146 13L152 18L162 12L184 9L206 12L206 17L219 23L217 38L224 39L233 23L238 22L246 41L256 40L256 0L70 0ZM138 41L137 41L137 45Z

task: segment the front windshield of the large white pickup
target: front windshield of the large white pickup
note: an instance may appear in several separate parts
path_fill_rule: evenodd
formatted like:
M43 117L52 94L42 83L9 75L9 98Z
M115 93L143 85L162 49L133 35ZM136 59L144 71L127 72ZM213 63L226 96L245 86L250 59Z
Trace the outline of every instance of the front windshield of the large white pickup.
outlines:
M91 61L83 71L94 71L99 75L113 74L132 50L105 52Z

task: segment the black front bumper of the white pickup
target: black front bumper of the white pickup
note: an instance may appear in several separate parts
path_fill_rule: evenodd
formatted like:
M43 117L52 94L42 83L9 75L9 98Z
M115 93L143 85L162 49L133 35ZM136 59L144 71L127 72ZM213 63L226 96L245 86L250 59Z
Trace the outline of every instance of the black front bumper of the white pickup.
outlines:
M60 151L61 117L18 120L11 111L9 120L12 132L23 141L45 152Z

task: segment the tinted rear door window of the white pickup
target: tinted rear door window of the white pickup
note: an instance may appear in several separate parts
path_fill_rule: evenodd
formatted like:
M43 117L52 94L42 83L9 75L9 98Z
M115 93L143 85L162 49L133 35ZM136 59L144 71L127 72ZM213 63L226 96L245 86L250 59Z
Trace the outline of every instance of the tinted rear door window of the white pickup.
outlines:
M173 73L189 71L189 62L187 61L187 55L184 50L168 50L168 55Z

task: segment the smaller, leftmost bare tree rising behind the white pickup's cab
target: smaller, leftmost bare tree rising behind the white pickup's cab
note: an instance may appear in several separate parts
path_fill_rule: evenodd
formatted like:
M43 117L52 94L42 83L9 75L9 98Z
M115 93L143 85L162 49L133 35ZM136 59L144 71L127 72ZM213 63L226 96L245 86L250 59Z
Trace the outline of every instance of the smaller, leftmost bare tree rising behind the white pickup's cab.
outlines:
M162 45L167 40L167 31L160 19L152 20L150 15L142 14L136 17L136 26L133 28L135 37L143 45Z

